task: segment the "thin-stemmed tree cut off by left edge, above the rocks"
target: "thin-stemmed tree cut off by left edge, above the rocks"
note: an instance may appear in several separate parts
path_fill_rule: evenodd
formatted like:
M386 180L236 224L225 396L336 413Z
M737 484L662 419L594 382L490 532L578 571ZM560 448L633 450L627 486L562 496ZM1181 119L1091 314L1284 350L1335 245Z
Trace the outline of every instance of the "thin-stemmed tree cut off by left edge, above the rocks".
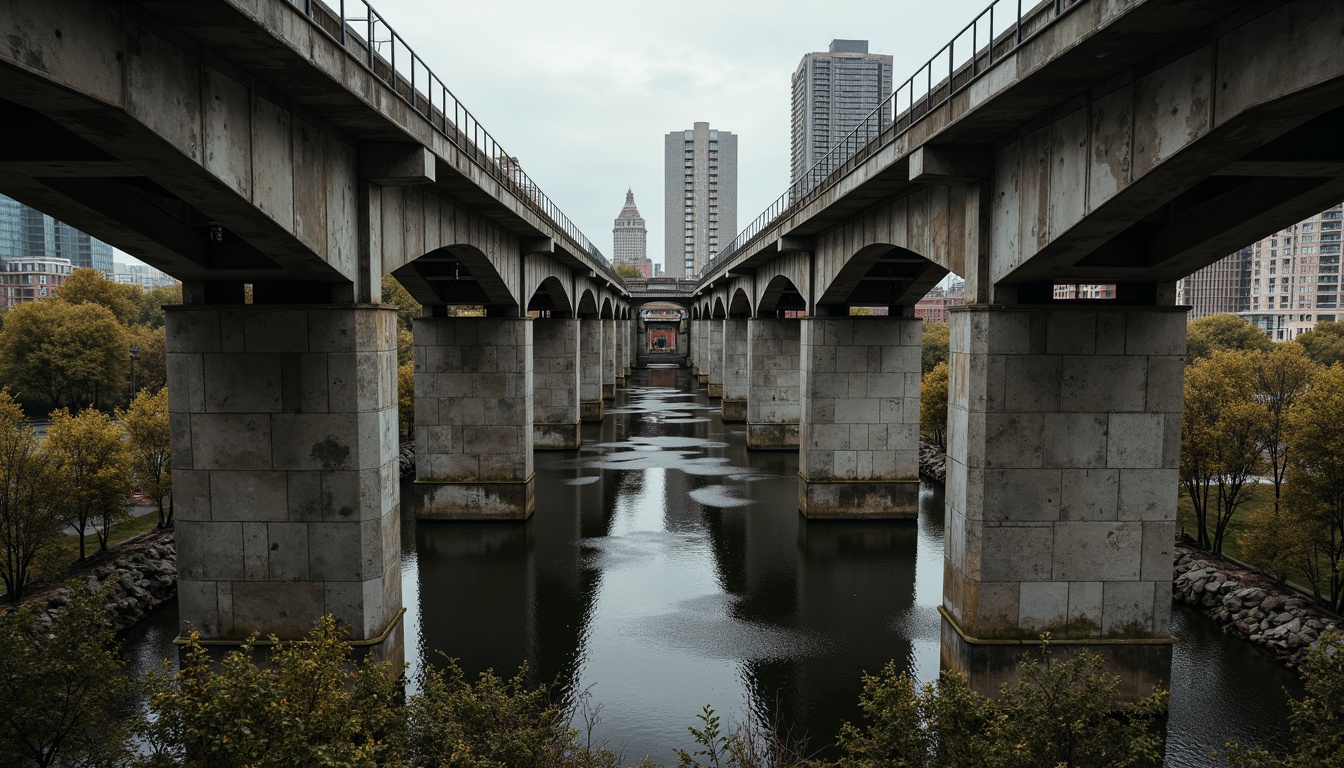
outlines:
M35 561L60 535L60 527L51 465L23 409L9 390L0 390L0 577L11 601L23 599Z

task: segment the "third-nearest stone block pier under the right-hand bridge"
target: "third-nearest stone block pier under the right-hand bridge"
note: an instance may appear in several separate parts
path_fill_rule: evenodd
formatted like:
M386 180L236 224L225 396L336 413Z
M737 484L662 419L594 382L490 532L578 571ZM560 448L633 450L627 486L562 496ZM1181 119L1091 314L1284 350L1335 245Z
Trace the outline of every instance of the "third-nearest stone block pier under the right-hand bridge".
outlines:
M800 334L797 319L747 320L747 448L798 447Z

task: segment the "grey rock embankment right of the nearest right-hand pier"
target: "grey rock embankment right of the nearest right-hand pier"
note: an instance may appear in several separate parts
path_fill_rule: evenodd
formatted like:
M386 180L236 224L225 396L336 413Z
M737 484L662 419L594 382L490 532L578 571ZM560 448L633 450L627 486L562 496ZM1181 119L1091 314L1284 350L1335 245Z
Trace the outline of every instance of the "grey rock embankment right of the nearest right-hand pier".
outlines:
M1261 646L1289 667L1302 662L1321 632L1344 627L1309 596L1189 546L1176 545L1175 570L1173 599L1198 605L1224 632Z

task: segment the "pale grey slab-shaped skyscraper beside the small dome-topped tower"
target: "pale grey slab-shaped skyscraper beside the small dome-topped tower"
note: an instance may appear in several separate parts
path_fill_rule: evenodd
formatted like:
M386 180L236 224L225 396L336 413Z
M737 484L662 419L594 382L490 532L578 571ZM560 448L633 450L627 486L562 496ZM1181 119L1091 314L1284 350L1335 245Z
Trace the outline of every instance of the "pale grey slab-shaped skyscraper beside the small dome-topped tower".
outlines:
M696 122L664 143L663 264L695 277L738 235L738 137Z

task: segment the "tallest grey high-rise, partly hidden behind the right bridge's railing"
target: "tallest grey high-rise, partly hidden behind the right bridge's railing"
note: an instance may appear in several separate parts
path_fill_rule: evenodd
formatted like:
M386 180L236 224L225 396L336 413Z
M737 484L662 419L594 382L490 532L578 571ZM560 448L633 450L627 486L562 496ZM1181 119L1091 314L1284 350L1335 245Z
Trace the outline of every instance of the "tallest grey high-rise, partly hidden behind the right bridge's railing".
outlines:
M868 40L831 40L831 50L805 54L793 73L793 153L797 182L832 147L891 95L891 56L868 52ZM880 116L879 126L888 125Z

